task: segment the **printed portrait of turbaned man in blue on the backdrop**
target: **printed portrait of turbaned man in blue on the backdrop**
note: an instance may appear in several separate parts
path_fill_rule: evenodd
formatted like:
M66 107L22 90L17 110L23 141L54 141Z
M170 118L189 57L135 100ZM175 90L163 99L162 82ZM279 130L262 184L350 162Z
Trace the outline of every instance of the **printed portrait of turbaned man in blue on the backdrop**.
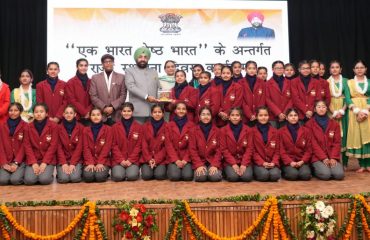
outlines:
M248 14L248 21L252 24L252 27L243 28L240 30L238 39L250 39L250 38L267 38L274 39L275 31L271 28L262 26L265 17L260 12L252 12Z

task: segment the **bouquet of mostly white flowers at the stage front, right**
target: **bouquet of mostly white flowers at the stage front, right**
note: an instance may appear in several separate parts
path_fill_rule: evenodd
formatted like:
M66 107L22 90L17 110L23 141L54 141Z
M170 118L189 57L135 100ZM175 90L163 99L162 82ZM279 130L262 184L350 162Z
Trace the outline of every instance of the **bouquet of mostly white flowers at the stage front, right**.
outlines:
M334 240L336 221L334 209L325 205L323 201L314 201L304 206L301 210L302 239L309 240Z

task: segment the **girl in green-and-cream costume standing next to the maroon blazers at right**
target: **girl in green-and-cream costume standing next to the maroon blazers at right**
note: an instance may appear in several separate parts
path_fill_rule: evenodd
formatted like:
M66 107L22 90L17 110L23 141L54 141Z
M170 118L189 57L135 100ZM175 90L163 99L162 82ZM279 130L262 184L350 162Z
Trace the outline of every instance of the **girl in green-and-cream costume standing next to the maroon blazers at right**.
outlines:
M329 64L330 77L327 80L330 89L331 101L329 105L330 116L339 123L342 136L342 163L348 165L346 155L347 129L348 129L348 108L345 102L344 90L347 88L347 78L342 77L342 66L340 62L333 60Z

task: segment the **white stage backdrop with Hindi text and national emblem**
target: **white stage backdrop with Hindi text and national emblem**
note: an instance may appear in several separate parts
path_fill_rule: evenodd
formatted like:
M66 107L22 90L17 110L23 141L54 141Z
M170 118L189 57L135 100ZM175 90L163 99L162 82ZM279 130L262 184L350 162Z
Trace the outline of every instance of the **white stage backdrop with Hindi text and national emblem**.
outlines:
M265 28L253 37L248 15L262 15ZM78 58L90 62L89 75L102 71L100 57L115 56L115 70L133 66L140 46L152 52L150 67L164 74L166 60L189 71L201 63L248 60L266 66L289 61L286 1L235 0L48 0L47 59L68 80ZM238 37L239 36L239 37Z

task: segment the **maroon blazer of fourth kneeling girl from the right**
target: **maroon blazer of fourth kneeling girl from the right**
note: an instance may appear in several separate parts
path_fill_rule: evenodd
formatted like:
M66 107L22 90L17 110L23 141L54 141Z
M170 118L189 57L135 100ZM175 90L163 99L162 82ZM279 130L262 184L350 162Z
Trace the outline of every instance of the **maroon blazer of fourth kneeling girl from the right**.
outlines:
M224 166L240 164L249 166L253 155L253 138L251 129L243 124L243 128L236 142L229 125L221 129L220 147L224 157Z

